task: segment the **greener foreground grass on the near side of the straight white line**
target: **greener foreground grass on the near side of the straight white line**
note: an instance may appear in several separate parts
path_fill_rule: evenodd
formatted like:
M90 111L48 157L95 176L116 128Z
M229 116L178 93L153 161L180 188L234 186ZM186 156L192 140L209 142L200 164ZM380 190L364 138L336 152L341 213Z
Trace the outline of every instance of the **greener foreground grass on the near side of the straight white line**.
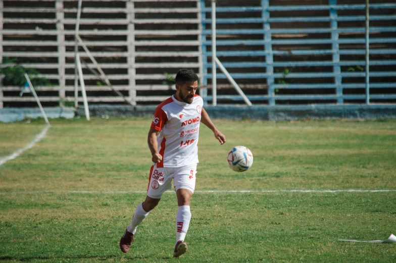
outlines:
M172 259L176 197L164 195L123 254L118 241L145 194L5 196L0 258L11 262ZM338 242L384 239L395 222L395 193L197 194L186 241L188 262L379 262L394 244Z

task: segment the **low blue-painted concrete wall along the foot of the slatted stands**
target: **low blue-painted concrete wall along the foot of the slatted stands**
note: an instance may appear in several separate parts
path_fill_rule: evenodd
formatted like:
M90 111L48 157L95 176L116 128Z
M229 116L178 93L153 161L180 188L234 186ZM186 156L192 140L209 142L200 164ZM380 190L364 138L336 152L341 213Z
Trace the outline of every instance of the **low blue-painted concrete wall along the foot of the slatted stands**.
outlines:
M253 119L286 121L301 119L377 119L396 118L396 105L317 105L317 106L206 106L211 118ZM155 106L130 107L96 105L89 107L90 116L95 117L153 117ZM85 116L84 108L44 108L48 118L73 118ZM38 108L0 109L0 122L15 122L25 118L41 118Z

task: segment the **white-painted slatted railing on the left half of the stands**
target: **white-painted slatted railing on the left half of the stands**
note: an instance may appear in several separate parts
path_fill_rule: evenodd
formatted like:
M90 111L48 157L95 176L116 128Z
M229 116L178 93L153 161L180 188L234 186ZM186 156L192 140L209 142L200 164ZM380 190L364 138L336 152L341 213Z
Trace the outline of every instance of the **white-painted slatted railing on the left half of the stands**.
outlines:
M97 2L102 2L97 5ZM161 3L165 2L165 3ZM0 0L0 63L17 58L51 81L36 87L43 106L74 101L74 35L77 0ZM173 88L165 72L180 68L202 77L200 5L197 0L83 0L79 35L115 90L137 104L157 103ZM79 54L92 66L86 53ZM84 68L88 101L122 103ZM147 91L155 90L147 94ZM29 106L20 87L0 86L0 108ZM80 99L80 102L82 99Z

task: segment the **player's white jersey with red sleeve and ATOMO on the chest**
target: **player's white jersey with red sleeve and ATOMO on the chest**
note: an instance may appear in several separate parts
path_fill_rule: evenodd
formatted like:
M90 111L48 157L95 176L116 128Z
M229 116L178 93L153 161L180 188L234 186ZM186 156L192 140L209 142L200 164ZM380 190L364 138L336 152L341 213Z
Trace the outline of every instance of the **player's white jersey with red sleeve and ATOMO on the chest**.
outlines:
M158 152L162 155L157 167L181 167L198 163L198 135L204 100L195 95L191 104L178 101L173 95L156 109L151 128L160 131Z

